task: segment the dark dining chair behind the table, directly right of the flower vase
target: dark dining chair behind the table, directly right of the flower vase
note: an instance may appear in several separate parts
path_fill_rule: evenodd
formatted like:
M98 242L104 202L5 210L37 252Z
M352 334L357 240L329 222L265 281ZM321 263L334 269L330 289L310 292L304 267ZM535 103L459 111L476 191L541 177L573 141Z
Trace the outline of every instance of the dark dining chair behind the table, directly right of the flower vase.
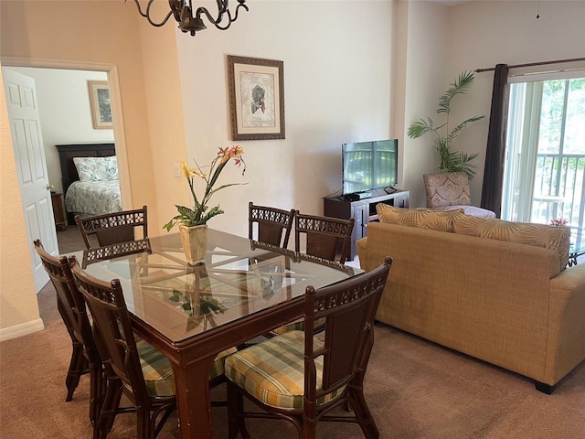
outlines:
M248 205L248 238L286 249L293 230L294 209Z

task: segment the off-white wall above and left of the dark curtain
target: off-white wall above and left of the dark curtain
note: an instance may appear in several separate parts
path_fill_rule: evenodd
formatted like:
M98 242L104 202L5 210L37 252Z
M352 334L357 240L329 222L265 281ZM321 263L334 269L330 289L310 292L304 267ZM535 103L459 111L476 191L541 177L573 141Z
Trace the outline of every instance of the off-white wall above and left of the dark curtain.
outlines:
M450 8L444 83L465 69L585 57L584 1L541 0L539 15L537 19L537 2L527 1L482 0ZM578 66L558 64L532 70L569 67ZM580 62L580 68L585 68L585 62ZM510 74L518 72L510 70ZM454 106L452 116L461 120L473 114L488 117L466 128L453 148L480 155L475 162L478 172L471 183L472 200L479 204L494 73L477 73L475 78L469 94Z

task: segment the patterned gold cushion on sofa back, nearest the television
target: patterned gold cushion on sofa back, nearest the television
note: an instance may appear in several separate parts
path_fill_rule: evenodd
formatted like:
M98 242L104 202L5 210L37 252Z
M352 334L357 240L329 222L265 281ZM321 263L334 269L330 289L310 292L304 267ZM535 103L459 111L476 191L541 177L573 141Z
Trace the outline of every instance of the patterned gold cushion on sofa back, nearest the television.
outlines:
M438 231L453 231L453 219L463 215L463 209L440 211L424 208L403 209L384 203L378 203L376 211L380 222Z

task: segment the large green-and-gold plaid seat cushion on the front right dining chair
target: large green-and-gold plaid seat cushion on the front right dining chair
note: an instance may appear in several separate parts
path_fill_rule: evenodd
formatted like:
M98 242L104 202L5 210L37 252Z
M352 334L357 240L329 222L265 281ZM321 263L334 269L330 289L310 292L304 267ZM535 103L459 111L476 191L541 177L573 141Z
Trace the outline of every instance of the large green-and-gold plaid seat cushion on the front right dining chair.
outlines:
M315 348L323 342L314 340ZM323 358L317 360L317 388L323 379ZM259 401L281 409L303 409L304 332L290 331L226 359L226 377ZM327 394L317 404L329 402L345 388Z

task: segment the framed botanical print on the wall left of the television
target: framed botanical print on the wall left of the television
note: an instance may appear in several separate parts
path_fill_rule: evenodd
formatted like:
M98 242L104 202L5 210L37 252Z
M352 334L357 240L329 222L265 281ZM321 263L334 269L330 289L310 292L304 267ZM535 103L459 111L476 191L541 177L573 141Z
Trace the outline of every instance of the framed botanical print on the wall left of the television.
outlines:
M228 55L232 140L284 138L282 61Z

